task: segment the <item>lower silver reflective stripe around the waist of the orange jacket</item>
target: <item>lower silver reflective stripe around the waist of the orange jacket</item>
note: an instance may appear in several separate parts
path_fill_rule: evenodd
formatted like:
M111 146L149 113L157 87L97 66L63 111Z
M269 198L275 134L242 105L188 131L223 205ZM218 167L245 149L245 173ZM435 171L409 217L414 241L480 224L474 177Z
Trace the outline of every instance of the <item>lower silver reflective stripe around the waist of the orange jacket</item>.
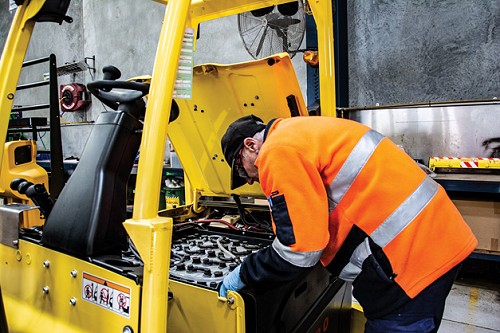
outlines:
M370 238L381 248L385 247L420 214L434 198L437 191L437 183L430 177L425 177L417 189L371 233ZM356 247L349 263L342 269L339 277L345 281L354 281L361 272L363 262L370 254L367 237Z

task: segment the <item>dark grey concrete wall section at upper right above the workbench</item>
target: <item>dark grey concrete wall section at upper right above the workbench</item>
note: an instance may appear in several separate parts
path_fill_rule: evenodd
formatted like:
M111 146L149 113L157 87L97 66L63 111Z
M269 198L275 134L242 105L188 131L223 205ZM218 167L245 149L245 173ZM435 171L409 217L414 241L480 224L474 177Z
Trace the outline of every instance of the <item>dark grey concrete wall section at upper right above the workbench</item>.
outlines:
M351 107L500 98L500 1L348 1Z

